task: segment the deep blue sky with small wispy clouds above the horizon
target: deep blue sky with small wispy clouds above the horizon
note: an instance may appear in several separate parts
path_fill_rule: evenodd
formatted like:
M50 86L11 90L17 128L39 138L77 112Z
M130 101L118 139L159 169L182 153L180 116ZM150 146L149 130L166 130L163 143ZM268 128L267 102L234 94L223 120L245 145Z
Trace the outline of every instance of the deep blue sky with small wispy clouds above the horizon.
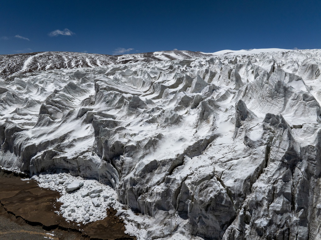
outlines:
M0 22L0 54L321 48L320 0L1 0Z

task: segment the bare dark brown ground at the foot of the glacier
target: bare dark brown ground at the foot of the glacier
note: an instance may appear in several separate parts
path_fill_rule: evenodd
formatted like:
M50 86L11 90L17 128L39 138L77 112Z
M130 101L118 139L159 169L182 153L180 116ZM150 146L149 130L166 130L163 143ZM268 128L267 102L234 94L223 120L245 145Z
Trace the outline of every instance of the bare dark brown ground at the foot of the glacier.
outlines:
M34 180L22 181L21 176L0 171L0 239L136 239L124 233L125 224L114 209L107 209L106 218L85 225L66 221L54 213L62 205L56 201L59 197Z

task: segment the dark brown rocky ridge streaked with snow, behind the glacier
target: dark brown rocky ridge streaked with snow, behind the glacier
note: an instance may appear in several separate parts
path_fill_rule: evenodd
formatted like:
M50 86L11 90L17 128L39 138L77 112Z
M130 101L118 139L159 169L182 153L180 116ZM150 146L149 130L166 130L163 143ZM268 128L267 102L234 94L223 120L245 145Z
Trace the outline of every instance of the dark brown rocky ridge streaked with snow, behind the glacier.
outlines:
M0 78L34 71L71 69L86 67L106 67L109 64L127 64L162 60L191 59L207 56L201 52L161 51L127 55L103 55L74 52L39 52L0 55Z

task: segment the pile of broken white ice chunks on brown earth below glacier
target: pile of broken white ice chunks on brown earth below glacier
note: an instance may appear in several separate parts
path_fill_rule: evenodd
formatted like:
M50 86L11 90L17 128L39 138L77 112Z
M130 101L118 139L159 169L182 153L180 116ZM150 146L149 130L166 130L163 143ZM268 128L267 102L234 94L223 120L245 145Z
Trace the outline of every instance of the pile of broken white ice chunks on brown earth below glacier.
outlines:
M33 176L40 187L49 187L58 191L63 202L59 212L66 219L76 222L96 221L106 217L106 208L121 206L115 199L115 191L93 179L73 177L67 173L39 174ZM121 208L120 208L121 209Z

